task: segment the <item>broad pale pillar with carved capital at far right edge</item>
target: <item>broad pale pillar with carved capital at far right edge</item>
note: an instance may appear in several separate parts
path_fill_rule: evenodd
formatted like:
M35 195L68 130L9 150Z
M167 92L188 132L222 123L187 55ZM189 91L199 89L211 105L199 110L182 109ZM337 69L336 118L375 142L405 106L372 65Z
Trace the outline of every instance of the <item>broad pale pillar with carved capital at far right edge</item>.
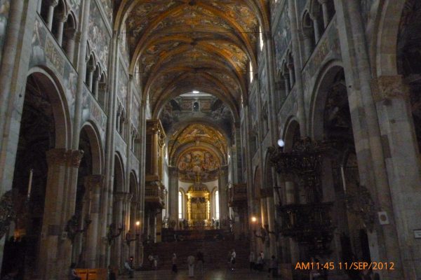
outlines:
M373 98L380 119L380 133L390 182L396 228L408 279L421 275L421 260L411 252L421 251L421 240L413 238L420 228L420 151L413 124L410 87L403 76L380 76L372 80ZM405 223L399 223L405 221Z

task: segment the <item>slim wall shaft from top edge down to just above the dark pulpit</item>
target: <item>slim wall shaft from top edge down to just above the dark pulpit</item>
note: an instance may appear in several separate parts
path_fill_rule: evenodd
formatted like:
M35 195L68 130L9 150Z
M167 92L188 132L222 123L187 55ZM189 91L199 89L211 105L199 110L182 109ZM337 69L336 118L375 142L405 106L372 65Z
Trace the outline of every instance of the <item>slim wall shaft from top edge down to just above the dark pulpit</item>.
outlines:
M300 123L301 137L307 137L307 118L304 104L304 90L302 87L302 74L300 65L300 40L298 39L298 26L297 26L297 10L295 8L295 0L288 0L288 16L290 20L290 32L293 44L293 57L295 69L295 90L298 99L298 123ZM292 85L292 84L291 84Z

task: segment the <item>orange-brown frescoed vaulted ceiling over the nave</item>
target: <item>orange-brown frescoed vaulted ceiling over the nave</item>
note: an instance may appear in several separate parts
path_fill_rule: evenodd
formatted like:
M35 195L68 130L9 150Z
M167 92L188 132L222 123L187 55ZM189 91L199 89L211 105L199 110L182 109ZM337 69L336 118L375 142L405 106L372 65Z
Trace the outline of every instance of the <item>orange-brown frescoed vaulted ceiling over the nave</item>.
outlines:
M123 4L126 3L126 4ZM267 0L121 1L131 65L153 111L189 90L209 92L238 111L256 63L258 16Z

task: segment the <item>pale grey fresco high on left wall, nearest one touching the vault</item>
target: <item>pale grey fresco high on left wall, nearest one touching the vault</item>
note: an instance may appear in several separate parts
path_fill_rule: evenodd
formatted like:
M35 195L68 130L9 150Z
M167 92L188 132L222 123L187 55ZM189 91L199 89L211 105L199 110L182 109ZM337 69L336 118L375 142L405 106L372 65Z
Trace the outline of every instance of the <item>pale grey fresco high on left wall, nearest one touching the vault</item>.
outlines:
M95 51L102 69L108 67L109 44L111 36L109 36L108 29L105 26L104 20L100 10L95 1L91 4L91 14L89 16L89 36L88 41L91 48Z

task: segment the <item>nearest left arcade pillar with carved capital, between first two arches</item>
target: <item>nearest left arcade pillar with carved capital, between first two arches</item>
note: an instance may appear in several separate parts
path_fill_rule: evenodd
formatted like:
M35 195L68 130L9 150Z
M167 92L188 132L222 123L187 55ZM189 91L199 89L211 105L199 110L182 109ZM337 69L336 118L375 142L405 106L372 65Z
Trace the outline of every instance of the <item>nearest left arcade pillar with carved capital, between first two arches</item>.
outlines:
M46 186L46 200L44 204L44 217L41 230L39 251L39 275L41 279L56 279L62 275L63 260L60 260L59 248L62 243L62 203L65 197L65 179L67 168L79 167L83 152L53 149L46 153L48 163L48 178ZM67 246L68 256L72 255L71 247Z

